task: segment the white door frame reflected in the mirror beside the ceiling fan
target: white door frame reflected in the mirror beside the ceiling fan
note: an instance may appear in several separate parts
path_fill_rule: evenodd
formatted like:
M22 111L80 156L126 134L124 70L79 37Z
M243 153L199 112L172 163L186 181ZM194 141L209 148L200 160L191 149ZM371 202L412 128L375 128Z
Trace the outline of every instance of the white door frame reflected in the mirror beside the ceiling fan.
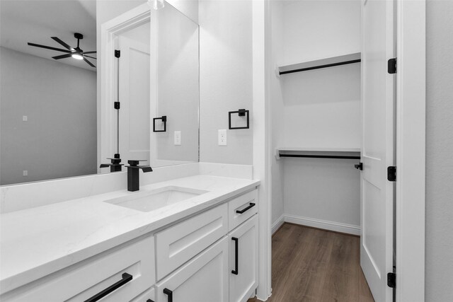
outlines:
M151 8L147 3L132 8L116 18L111 19L101 25L101 103L98 104L98 141L101 141L98 150L98 166L105 158L113 157L115 151L115 137L112 129L116 129L116 112L113 108L116 87L116 62L115 38L127 30L136 28L139 25L148 23L151 18ZM107 173L98 168L98 173Z

